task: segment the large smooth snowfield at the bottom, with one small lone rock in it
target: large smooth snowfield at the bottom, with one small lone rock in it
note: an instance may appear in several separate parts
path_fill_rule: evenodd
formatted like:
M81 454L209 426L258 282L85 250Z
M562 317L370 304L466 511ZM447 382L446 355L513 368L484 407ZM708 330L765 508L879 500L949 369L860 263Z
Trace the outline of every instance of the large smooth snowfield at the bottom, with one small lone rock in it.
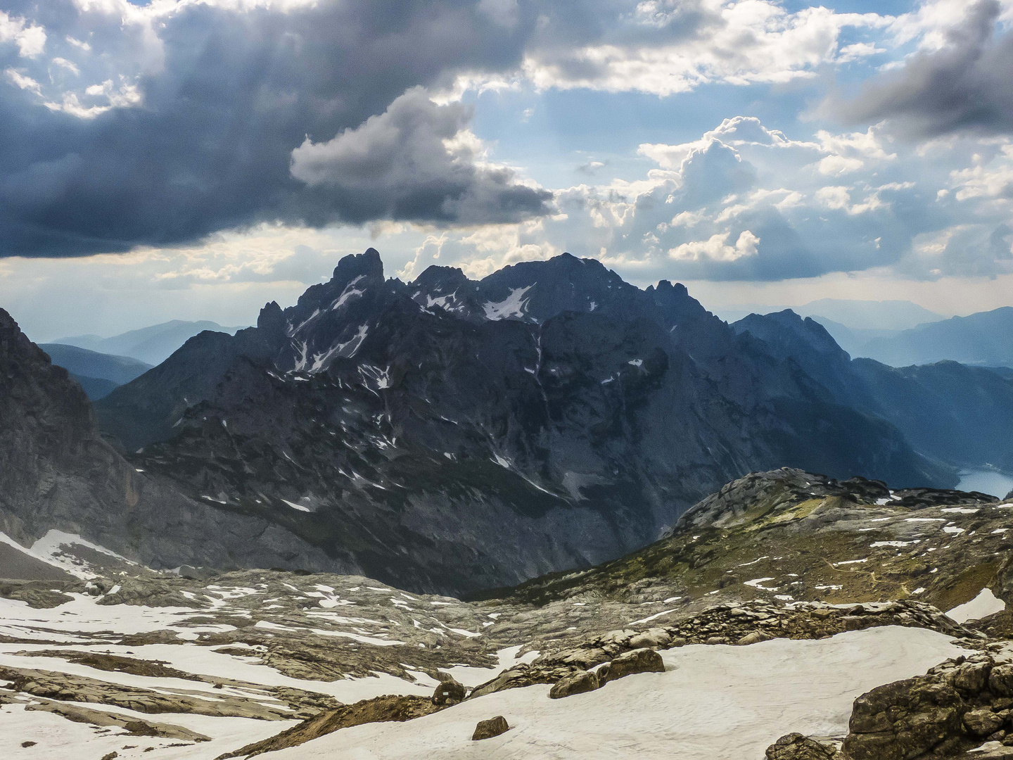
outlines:
M683 647L661 653L667 673L565 699L549 699L547 685L511 689L406 724L345 729L265 760L751 760L792 731L846 733L859 694L960 654L949 636L895 626ZM478 720L500 714L511 731L471 741Z

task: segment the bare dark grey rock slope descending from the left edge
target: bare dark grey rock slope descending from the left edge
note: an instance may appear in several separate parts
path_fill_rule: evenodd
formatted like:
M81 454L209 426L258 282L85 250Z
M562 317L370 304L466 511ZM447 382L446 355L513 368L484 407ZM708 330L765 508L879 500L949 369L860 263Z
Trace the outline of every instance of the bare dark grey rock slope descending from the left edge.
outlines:
M128 463L102 440L67 370L0 309L0 532L30 545L53 529L155 567L357 567L281 526L187 499Z

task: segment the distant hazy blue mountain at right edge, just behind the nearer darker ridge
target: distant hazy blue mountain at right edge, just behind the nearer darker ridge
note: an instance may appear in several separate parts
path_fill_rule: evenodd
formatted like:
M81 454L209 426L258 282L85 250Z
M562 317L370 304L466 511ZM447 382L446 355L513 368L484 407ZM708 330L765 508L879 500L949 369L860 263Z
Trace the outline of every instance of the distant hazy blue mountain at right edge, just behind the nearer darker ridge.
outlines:
M861 347L859 356L893 367L944 360L980 367L1013 367L1013 306L874 337Z

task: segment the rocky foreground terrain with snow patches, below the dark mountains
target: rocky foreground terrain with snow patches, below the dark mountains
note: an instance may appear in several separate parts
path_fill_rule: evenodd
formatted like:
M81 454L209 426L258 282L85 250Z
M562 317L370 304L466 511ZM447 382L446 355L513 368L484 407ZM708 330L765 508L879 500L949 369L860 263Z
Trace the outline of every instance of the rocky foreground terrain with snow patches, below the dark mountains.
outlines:
M55 531L4 538L0 576L17 578L0 582L0 746L1010 757L1011 531L1011 501L775 470L639 552L471 601L361 576L156 572Z

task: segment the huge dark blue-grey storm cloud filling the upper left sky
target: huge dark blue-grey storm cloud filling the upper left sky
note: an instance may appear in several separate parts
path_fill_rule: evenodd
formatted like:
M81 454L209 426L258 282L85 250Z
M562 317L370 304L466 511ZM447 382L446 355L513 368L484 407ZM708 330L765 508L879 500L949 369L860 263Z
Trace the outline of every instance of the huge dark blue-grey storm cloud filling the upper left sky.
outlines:
M392 186L390 172L377 186L358 176L354 194L290 173L293 149L306 139L326 146L411 87L516 67L534 23L523 8L504 15L495 3L483 10L463 0L407 0L240 13L194 5L150 28L79 14L69 2L6 9L45 24L47 65L67 51L83 84L107 79L115 94L127 81L118 67L132 63L126 73L137 76L143 100L81 119L51 110L13 75L0 82L0 254L128 250L265 220L484 222L545 211L545 193L473 165L444 171L438 186L416 186L407 202L380 197ZM52 89L29 63L13 45L0 46L0 69ZM455 115L464 127L466 115Z

